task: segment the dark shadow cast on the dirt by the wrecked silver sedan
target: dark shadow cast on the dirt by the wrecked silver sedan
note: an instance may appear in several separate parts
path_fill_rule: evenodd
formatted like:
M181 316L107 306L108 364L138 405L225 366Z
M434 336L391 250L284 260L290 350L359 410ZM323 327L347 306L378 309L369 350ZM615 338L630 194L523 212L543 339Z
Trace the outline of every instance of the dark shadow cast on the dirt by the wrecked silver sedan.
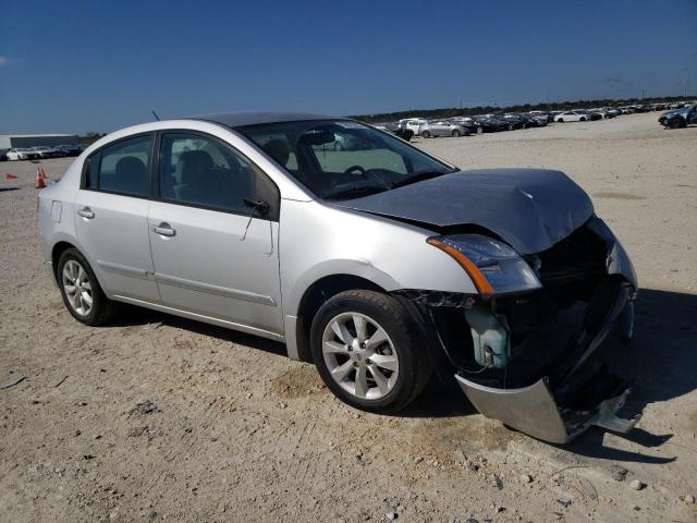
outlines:
M613 370L634 382L622 415L632 417L647 405L664 402L697 389L697 295L680 292L641 289L636 302L634 342L621 348L612 358ZM125 306L112 326L133 326L162 323L168 326L210 336L220 340L285 356L283 343L253 335L224 329L155 311ZM617 345L620 349L620 345ZM476 409L455 384L435 377L424 393L400 417L456 417L476 414ZM466 423L466 422L465 422ZM697 419L696 419L697 425ZM697 426L693 427L697 430ZM603 446L604 430L591 428L563 448L589 458L604 460L664 463L671 458L658 458ZM617 435L643 448L667 446L672 434L651 434L634 428ZM676 443L675 443L676 445ZM695 449L697 451L697 449Z

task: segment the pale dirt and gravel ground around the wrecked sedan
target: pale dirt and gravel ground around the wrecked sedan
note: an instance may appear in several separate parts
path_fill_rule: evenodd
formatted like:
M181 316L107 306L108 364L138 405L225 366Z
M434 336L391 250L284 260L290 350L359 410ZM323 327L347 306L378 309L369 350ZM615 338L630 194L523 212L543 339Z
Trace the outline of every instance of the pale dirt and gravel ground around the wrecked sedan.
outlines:
M462 168L565 171L635 263L644 417L566 447L438 384L365 414L281 344L163 314L84 327L39 256L36 166L0 163L19 177L0 181L0 521L697 521L697 127L657 118L417 141Z

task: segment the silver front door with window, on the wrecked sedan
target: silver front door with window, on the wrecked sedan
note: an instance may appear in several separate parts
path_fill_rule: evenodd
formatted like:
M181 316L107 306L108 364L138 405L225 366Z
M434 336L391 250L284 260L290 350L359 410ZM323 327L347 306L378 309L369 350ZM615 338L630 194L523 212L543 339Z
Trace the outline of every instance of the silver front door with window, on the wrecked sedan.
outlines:
M230 145L193 132L163 133L157 165L148 223L162 304L280 333L278 188Z

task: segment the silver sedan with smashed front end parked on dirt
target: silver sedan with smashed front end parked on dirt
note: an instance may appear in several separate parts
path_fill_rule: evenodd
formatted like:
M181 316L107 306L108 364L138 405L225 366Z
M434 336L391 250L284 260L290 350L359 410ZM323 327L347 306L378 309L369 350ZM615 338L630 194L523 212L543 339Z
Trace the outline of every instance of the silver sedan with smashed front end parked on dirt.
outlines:
M374 412L435 375L549 441L632 426L596 363L632 336L636 276L559 171L461 171L350 119L210 114L102 137L38 212L85 325L122 302L278 340Z

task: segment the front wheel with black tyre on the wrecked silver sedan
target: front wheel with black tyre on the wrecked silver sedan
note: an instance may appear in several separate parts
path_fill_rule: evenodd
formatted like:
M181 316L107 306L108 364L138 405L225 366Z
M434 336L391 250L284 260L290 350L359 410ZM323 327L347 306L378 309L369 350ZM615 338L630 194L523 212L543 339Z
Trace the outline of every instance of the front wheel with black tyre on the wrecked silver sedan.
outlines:
M345 291L325 303L313 320L310 350L334 396L370 412L403 409L431 373L408 313L372 291Z

